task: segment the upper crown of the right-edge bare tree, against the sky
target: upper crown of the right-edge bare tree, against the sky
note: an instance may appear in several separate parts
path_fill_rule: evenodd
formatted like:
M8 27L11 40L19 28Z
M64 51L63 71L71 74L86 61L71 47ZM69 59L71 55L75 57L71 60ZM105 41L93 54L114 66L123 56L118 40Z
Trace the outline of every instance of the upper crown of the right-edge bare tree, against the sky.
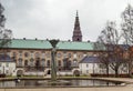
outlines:
M129 4L122 12L122 31L126 44L133 43L133 8Z

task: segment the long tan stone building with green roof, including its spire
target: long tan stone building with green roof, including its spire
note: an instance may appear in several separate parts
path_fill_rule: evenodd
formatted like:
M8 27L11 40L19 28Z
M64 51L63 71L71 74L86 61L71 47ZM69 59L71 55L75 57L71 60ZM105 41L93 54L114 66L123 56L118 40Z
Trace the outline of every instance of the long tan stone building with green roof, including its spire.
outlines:
M49 40L12 39L8 48L8 54L17 63L17 74L45 75L51 70L51 50ZM59 41L57 44L58 72L79 71L79 62L85 55L94 55L93 42L82 42L79 16L76 12L72 41Z

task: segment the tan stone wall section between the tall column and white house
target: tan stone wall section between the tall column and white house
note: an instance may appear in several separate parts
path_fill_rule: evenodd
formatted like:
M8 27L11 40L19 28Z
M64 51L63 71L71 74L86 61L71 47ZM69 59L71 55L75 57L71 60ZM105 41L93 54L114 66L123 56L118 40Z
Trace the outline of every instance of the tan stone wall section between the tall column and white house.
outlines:
M85 57L85 55L93 55L92 51L68 51L68 50L58 50L57 51L57 65L58 67L64 67L64 60L71 62L71 68L79 68L79 62ZM59 63L59 61L61 63Z

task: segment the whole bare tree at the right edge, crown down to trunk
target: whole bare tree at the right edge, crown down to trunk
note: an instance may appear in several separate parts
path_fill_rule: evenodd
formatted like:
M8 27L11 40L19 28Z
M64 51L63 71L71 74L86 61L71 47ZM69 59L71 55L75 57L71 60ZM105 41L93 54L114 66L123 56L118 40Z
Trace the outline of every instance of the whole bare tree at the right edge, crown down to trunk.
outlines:
M132 77L133 69L133 59L132 59L132 44L133 44L133 8L131 4L127 4L125 10L122 12L122 32L125 44L131 46L127 50L129 58L126 61L129 62L129 74Z

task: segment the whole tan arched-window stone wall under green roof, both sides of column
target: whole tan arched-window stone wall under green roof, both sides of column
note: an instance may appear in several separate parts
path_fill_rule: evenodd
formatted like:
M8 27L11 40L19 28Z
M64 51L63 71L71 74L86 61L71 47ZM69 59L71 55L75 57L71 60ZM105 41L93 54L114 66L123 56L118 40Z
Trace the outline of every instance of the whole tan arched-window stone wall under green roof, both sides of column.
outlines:
M16 61L17 71L22 70L24 73L30 74L30 72L44 72L51 69L51 50L48 49L9 49L8 54ZM57 68L58 71L72 71L73 69L79 69L79 62L85 55L94 55L93 51L75 51L75 50L57 50ZM31 62L32 60L32 62ZM39 60L40 65L37 70L37 60ZM71 64L65 67L64 60L70 61ZM29 72L29 73L28 73ZM33 73L31 73L33 74Z

